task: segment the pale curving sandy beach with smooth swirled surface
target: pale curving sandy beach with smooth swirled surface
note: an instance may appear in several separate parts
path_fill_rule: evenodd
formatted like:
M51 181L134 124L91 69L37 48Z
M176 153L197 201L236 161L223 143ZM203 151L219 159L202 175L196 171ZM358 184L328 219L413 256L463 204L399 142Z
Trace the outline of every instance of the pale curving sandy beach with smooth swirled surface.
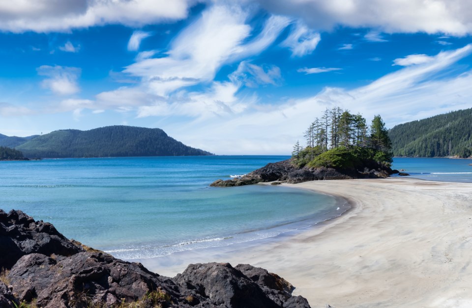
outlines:
M175 276L188 263L249 263L277 273L312 307L472 307L472 185L406 178L289 185L353 209L295 234L141 259Z

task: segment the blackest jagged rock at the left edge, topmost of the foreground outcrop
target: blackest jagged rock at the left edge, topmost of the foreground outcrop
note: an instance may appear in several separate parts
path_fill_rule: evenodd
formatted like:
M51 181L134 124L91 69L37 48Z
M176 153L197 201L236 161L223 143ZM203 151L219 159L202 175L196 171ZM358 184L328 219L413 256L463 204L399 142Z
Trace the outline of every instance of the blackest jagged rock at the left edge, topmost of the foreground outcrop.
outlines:
M11 268L27 254L70 256L82 250L50 223L34 221L22 211L0 209L0 268Z

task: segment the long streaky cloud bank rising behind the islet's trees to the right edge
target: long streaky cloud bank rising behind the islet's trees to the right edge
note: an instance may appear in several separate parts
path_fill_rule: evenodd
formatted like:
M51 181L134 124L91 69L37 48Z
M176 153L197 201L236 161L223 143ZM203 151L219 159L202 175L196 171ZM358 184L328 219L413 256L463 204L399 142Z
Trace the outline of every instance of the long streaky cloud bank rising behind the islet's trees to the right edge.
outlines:
M467 45L441 52L424 65L402 68L352 90L326 87L312 97L279 105L247 107L230 119L213 117L204 124L171 123L167 130L182 142L217 154L290 154L295 141L303 139L302 132L326 107L337 105L360 112L368 121L380 114L387 127L469 108L472 72L446 79L435 77L442 76L451 65L471 53L472 45Z

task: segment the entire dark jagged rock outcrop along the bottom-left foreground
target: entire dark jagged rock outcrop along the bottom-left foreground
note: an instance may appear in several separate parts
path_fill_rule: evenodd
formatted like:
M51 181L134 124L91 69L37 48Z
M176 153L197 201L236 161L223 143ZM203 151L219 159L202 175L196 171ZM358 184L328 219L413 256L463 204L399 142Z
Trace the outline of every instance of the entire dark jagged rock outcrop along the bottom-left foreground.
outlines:
M283 278L248 264L190 264L175 278L70 241L0 210L0 307L310 307Z

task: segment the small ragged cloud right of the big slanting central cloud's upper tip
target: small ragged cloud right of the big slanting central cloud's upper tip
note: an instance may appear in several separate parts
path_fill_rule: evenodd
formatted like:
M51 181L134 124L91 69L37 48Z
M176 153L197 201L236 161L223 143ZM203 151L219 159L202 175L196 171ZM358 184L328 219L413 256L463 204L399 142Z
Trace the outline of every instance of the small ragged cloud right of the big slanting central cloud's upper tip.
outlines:
M293 56L300 57L312 53L320 41L320 33L297 22L292 32L281 45L290 48Z

